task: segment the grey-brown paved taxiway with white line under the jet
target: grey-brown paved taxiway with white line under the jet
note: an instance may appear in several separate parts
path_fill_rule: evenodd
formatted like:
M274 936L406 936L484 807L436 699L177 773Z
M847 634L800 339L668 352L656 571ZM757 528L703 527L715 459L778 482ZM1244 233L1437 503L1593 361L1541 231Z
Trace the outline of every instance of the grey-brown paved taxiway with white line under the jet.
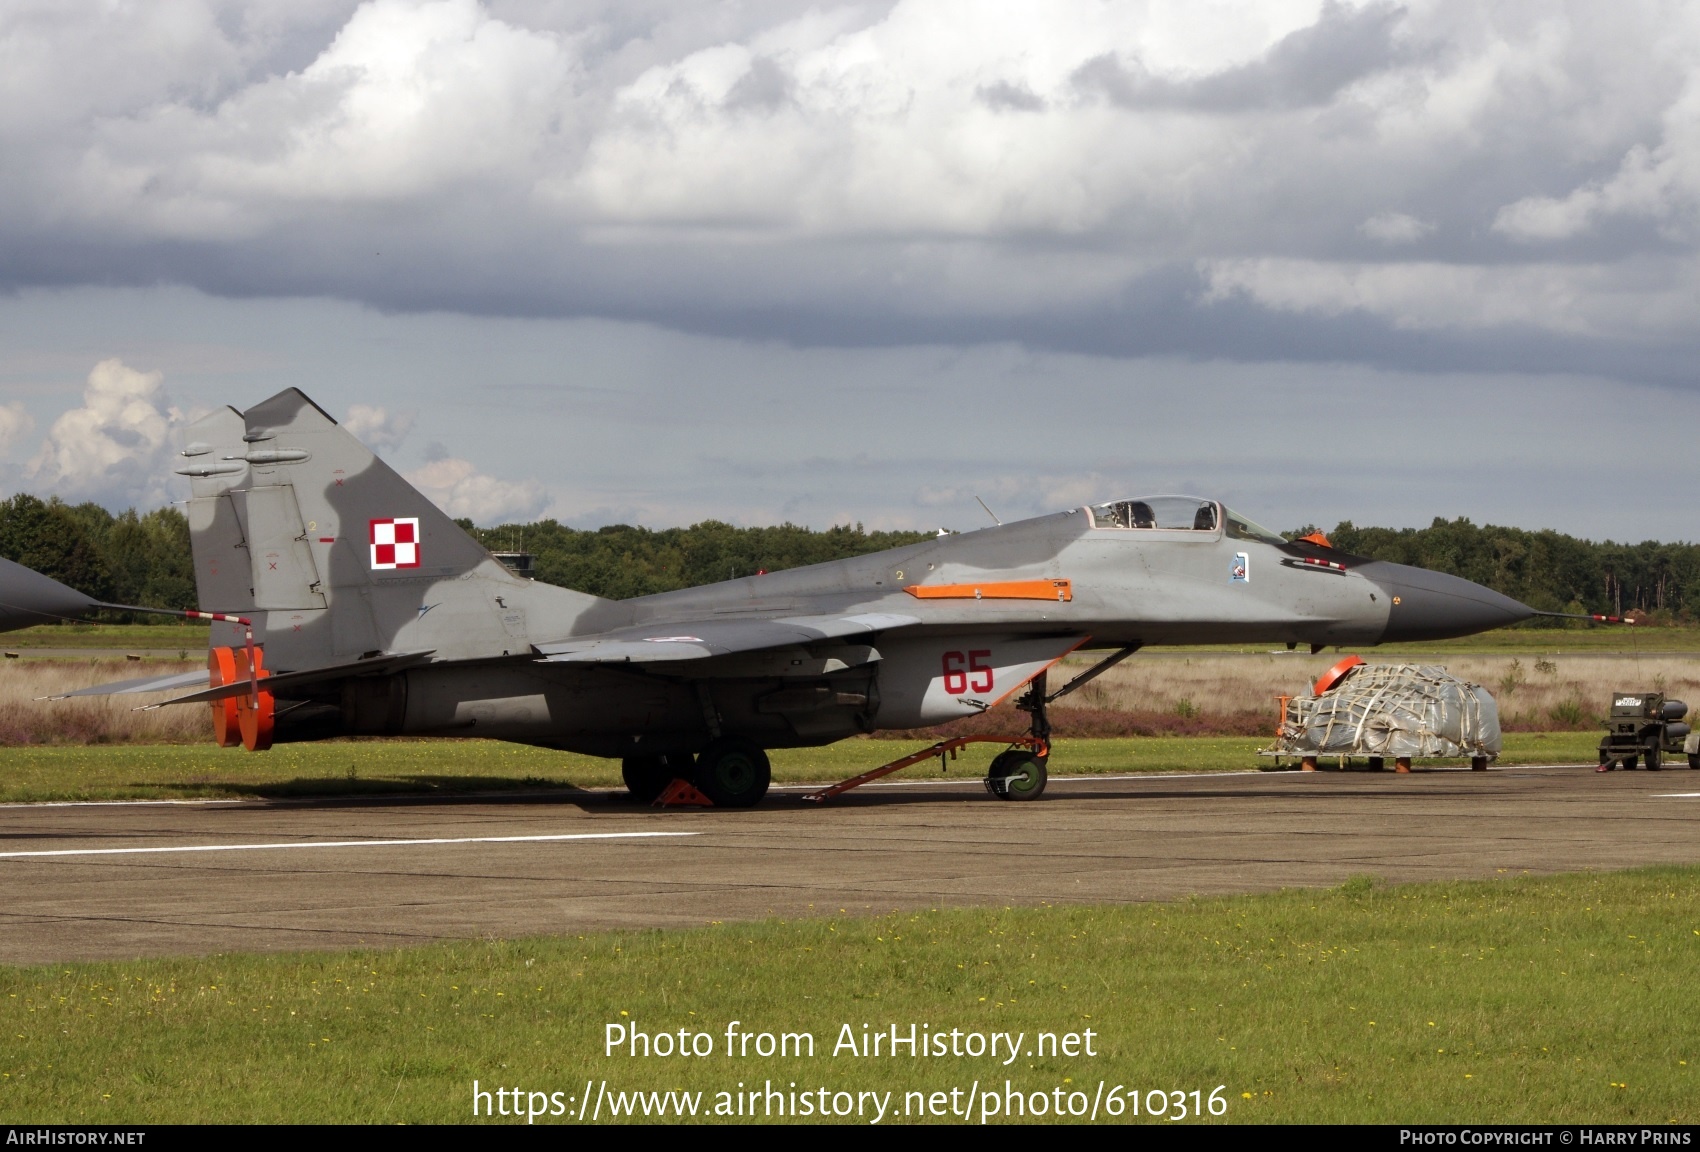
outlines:
M1078 776L802 788L753 810L537 797L0 805L0 962L1700 861L1700 773Z

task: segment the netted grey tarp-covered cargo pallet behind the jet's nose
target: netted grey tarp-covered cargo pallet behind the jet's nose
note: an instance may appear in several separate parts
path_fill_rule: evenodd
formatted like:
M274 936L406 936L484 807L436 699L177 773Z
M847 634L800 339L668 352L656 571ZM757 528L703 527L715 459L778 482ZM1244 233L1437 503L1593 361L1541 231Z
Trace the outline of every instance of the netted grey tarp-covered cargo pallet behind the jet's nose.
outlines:
M1314 695L1282 702L1275 744L1261 756L1295 758L1314 770L1323 758L1345 768L1362 758L1380 768L1392 760L1409 771L1414 760L1469 760L1484 770L1499 756L1499 705L1481 685L1431 664L1341 661L1318 681Z

